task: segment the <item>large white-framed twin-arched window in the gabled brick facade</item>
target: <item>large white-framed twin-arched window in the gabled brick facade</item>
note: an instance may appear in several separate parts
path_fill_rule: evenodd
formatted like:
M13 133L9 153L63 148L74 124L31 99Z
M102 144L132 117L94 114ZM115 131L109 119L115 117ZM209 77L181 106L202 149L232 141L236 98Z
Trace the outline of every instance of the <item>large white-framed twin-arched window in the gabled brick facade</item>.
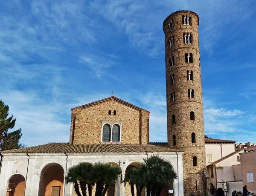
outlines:
M104 124L104 125L103 125ZM103 122L102 121L102 142L120 142L122 122Z

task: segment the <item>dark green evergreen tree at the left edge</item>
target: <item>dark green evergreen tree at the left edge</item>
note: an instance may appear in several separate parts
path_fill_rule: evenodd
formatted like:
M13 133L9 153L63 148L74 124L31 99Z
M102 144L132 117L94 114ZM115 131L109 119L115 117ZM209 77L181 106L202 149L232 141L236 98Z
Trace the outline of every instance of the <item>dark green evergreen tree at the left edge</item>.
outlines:
M13 115L8 118L8 111L9 106L0 100L0 150L12 150L24 147L24 144L19 144L22 135L21 129L8 133L8 130L15 126L16 121Z

